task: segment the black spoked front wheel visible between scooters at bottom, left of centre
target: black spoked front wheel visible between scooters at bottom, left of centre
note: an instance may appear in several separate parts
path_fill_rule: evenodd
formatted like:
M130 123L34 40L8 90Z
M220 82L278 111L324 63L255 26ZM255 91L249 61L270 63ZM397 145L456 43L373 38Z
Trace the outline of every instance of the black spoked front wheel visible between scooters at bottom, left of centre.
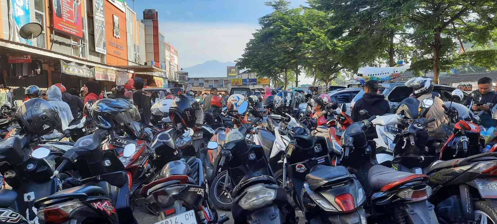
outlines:
M216 178L212 181L212 185L209 189L210 191L210 201L220 210L230 211L231 204L233 203L233 199L231 199L229 191L231 189L227 189L227 191L223 190L224 181L226 179L226 174L228 171L223 171L219 173Z

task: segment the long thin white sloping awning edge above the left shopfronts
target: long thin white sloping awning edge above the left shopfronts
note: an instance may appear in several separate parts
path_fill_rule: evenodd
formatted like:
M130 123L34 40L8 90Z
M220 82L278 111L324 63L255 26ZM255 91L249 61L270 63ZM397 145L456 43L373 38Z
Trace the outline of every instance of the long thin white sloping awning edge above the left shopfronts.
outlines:
M100 68L104 68L104 69L112 69L112 70L121 71L121 72L127 71L125 68L109 66L106 64L102 64L102 63L98 63L98 62L94 62L94 61L89 61L89 60L74 57L74 56L69 56L69 55L58 53L55 51L49 51L47 49L38 48L38 47L31 46L31 45L25 45L25 44L5 40L5 39L0 39L0 49L5 49L5 48L8 48L9 54L36 54L40 57L52 57L54 59L62 59L65 61L76 62L79 64L100 67Z

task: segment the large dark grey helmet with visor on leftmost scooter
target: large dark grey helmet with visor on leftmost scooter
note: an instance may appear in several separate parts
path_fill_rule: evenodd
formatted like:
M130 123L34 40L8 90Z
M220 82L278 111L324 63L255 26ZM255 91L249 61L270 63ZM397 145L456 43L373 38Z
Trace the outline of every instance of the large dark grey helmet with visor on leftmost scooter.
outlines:
M59 112L41 98L33 98L24 102L14 113L14 119L24 131L31 134L41 136L49 134L53 130L62 132Z

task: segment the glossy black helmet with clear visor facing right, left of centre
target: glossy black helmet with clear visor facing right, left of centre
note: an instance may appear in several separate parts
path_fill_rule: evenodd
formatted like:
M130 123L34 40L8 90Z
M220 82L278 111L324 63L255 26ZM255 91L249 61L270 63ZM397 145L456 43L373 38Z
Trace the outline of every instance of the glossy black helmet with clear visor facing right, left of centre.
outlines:
M181 124L182 128L192 128L204 123L204 111L195 98L179 94L169 108L169 118L176 127Z

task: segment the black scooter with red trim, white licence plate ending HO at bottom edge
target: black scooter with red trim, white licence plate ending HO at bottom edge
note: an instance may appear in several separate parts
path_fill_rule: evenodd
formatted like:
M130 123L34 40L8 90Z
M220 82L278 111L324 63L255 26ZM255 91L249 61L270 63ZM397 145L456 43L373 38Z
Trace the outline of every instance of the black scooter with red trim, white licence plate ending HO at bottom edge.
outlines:
M215 209L209 203L208 186L202 160L195 156L193 130L185 132L171 128L154 136L152 163L163 167L140 195L147 209L159 221L169 223L217 223ZM176 140L174 140L176 139ZM222 216L219 223L228 220Z

